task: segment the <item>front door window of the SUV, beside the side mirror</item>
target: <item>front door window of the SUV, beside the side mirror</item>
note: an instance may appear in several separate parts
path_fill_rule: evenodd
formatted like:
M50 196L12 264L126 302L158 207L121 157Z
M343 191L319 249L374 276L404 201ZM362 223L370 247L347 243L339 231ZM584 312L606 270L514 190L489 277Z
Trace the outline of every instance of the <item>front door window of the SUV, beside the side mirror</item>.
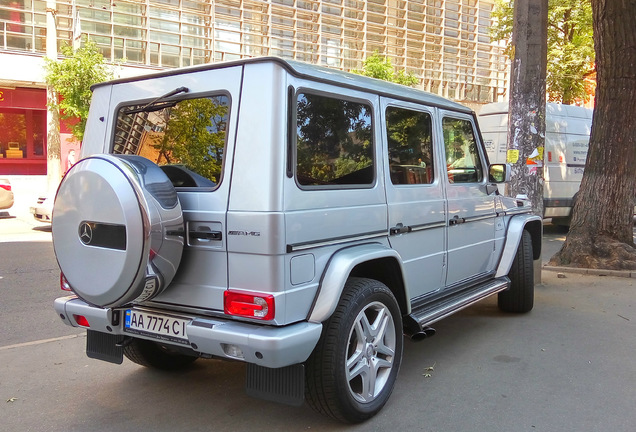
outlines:
M479 183L483 179L482 163L472 123L445 117L442 120L448 181Z

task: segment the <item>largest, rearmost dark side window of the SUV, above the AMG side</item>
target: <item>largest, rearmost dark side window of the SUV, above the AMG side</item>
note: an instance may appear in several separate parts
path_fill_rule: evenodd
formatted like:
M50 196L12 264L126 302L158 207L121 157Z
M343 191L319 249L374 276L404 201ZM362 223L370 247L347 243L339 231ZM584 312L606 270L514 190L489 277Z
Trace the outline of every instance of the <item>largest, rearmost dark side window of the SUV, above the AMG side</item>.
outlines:
M298 94L296 102L298 184L373 184L371 106L309 93Z

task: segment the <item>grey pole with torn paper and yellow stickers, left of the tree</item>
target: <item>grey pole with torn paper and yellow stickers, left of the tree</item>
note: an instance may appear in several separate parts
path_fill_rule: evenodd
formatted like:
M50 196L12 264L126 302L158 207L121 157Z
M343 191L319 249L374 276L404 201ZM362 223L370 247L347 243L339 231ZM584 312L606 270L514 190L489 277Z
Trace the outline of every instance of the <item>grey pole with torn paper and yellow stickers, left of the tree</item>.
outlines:
M526 195L541 216L547 38L548 0L515 0L507 143L512 175L506 195Z

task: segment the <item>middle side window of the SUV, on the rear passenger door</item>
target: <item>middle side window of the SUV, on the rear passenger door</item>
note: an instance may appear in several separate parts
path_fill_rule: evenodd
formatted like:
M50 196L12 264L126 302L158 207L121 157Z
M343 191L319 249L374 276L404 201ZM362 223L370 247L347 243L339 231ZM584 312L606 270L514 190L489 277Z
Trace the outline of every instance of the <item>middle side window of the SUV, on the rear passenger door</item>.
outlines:
M430 114L404 108L387 108L386 133L393 184L433 183L431 130Z

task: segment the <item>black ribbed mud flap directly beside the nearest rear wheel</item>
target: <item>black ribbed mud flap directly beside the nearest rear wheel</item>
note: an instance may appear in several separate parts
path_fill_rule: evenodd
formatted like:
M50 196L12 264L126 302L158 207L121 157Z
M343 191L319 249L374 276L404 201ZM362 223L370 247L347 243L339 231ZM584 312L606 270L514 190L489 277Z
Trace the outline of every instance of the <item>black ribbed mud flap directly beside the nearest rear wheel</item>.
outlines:
M305 401L305 365L272 369L248 363L245 391L255 398L301 406Z

